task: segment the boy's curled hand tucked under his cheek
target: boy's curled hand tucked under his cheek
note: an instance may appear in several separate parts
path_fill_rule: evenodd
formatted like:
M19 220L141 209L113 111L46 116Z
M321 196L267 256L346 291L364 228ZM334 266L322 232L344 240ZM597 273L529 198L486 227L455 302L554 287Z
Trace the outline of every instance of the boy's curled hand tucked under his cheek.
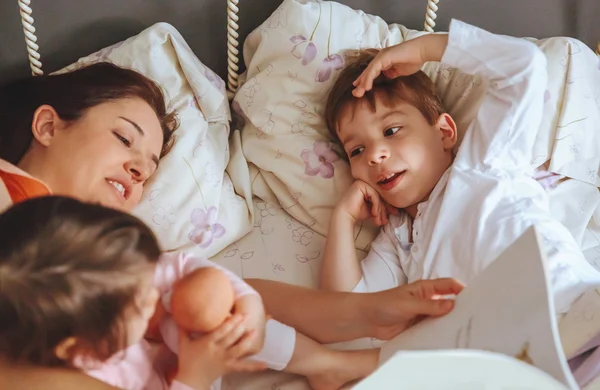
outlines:
M356 180L336 206L336 213L346 213L354 223L373 218L377 226L388 223L385 202L377 191L362 180Z

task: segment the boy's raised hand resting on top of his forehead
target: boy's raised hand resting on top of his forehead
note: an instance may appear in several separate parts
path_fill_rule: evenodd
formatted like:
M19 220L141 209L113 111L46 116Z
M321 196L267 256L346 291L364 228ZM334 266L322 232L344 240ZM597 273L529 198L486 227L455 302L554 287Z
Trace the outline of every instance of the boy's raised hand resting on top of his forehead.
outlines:
M381 50L354 81L353 95L362 97L370 91L381 73L390 79L409 76L427 61L440 61L447 44L447 34L429 34Z

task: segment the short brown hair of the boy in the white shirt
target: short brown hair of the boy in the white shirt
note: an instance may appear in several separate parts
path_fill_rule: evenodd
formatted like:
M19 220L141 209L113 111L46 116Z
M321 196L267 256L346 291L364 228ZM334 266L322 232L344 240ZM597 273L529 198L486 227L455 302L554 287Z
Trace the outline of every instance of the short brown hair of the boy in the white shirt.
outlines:
M372 111L375 111L376 99L382 101L386 106L393 106L400 102L407 103L419 109L430 125L435 124L439 116L446 112L433 81L422 71L395 79L389 79L381 74L373 81L373 88L366 92L363 98L354 97L352 83L378 53L377 49L357 52L355 58L349 60L346 67L340 72L329 92L325 106L325 122L335 140L339 140L337 128L340 113L345 108L354 108L361 102L366 101Z

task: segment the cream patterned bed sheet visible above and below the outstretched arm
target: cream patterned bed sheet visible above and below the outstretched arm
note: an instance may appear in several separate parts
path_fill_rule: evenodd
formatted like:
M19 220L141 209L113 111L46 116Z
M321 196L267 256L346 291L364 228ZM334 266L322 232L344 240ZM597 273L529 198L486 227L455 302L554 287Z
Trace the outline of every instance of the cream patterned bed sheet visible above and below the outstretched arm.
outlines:
M271 279L316 287L325 237L292 218L281 206L253 199L255 221L252 231L231 244L212 261L244 278ZM305 390L303 377L268 371L230 375L223 390Z

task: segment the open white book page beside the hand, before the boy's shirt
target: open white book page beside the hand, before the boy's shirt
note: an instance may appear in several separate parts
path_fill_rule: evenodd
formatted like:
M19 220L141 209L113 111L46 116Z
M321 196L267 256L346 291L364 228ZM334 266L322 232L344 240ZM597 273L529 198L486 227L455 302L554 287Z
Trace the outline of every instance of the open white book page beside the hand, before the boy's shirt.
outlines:
M450 314L386 343L380 363L402 350L479 349L516 357L578 388L558 337L540 242L528 229L456 297Z

